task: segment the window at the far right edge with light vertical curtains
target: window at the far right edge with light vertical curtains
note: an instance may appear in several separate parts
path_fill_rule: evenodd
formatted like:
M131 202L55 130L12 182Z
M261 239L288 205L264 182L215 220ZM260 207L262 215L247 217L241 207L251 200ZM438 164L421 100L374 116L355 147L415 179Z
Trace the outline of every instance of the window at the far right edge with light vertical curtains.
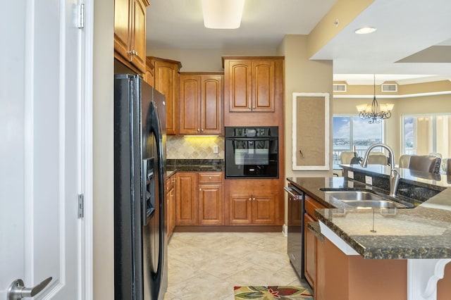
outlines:
M451 115L403 115L402 154L451 157Z

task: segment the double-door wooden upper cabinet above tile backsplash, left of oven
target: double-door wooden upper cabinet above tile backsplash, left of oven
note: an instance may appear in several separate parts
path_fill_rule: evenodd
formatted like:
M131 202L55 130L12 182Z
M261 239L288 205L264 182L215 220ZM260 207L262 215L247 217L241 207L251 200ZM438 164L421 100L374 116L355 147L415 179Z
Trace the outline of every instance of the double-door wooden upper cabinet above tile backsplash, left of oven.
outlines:
M180 135L223 134L223 75L180 73Z

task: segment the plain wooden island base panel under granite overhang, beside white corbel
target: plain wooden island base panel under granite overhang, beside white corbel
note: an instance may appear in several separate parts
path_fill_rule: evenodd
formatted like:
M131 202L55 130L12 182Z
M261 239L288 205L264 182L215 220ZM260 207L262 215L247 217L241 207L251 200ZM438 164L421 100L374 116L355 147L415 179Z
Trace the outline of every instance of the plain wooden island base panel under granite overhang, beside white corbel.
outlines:
M407 299L407 260L347 256L316 240L315 300Z

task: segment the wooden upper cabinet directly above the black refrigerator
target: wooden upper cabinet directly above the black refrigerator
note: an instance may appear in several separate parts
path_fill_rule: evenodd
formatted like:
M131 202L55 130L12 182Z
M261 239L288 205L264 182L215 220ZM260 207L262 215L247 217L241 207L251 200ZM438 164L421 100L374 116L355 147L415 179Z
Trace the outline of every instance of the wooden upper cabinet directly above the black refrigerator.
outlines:
M136 73L146 72L147 0L114 1L114 57Z

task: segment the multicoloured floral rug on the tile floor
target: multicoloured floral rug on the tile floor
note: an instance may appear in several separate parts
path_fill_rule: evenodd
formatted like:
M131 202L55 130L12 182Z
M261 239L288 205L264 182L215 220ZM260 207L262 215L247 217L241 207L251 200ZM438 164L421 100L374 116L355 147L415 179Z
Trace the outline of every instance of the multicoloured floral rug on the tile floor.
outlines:
M233 287L235 300L313 300L313 296L304 287L273 286L273 287Z

